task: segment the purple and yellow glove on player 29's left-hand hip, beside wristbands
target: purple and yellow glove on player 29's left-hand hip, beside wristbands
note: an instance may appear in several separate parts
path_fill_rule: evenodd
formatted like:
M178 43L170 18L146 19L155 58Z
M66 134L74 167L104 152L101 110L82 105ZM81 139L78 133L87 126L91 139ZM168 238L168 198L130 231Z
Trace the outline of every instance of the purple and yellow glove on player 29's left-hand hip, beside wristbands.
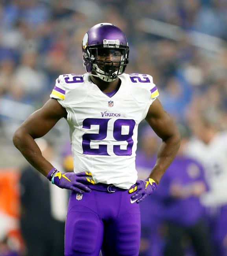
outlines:
M52 184L58 187L71 189L80 194L91 191L85 184L95 184L92 174L89 172L60 173L55 169L54 171L50 171L47 178L51 180Z

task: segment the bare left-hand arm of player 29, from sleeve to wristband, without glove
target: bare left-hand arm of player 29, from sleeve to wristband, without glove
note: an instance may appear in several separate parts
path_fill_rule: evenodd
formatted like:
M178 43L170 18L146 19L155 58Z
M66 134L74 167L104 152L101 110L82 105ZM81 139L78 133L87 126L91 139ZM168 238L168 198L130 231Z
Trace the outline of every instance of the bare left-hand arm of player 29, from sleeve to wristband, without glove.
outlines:
M41 109L31 114L13 136L15 147L35 169L45 176L53 166L42 156L35 139L48 133L62 117L67 117L66 109L57 100L50 99Z

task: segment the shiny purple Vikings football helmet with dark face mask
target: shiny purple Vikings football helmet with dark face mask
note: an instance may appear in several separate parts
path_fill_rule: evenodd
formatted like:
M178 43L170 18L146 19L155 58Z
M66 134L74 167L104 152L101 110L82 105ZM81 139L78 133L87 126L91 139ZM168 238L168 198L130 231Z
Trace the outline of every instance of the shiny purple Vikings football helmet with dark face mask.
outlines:
M100 23L90 28L83 37L82 51L87 73L105 82L125 72L129 46L122 30L113 24Z

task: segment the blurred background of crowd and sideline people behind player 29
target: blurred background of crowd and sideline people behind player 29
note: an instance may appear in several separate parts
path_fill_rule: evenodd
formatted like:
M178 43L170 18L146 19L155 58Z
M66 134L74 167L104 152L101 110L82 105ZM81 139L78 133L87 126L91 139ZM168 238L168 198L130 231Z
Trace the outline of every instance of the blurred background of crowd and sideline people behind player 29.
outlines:
M36 226L53 218L46 236L37 231L43 244L50 245L48 234L64 226L65 212L43 177L39 193L26 193L35 187L29 175L22 175L31 167L14 148L12 135L48 100L59 74L85 73L81 41L100 22L125 32L130 48L126 72L153 76L159 99L183 138L160 189L141 206L141 256L226 256L227 0L0 1L0 256L51 255L28 253L42 245L26 236L33 223L23 219L26 207ZM39 143L54 150L51 158L59 168L72 170L66 122L45 139ZM160 141L142 122L139 142L137 168L146 178ZM38 204L43 198L45 206ZM41 209L46 215L34 214ZM63 240L55 234L55 241ZM59 251L53 255L63 255Z

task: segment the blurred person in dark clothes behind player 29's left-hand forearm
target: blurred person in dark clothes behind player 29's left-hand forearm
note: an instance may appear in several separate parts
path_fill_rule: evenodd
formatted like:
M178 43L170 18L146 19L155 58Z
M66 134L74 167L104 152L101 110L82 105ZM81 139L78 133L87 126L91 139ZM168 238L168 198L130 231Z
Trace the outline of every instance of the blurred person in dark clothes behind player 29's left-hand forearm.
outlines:
M46 139L37 139L42 155L59 166L53 146ZM68 156L67 156L68 158ZM66 163L67 161L67 163ZM65 165L69 167L65 157ZM71 167L71 171L73 167ZM65 171L68 171L65 169ZM31 165L22 170L20 178L20 227L27 256L64 255L64 230L68 204L67 190L52 186Z

